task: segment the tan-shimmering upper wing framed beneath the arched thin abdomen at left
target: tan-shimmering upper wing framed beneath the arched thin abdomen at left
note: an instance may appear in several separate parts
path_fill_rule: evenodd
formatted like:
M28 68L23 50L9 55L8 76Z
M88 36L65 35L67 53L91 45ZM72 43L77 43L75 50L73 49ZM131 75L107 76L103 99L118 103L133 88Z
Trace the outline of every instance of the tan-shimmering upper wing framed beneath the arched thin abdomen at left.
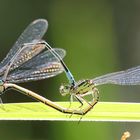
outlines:
M45 45L40 43L26 43L21 49L19 49L16 54L10 59L7 63L6 67L2 67L2 71L0 75L2 79L5 81L7 79L7 75L10 71L14 71L14 69L20 67L39 53L41 53L46 48Z

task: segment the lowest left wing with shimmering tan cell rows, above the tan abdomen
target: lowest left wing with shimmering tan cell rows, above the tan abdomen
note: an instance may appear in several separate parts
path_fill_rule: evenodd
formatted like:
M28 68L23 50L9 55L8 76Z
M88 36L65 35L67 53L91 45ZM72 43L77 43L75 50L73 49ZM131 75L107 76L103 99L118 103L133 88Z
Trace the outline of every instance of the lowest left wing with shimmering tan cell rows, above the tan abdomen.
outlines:
M7 82L23 83L29 81L42 80L62 73L63 67L59 62L42 64L29 70L19 70L17 73L8 75Z

